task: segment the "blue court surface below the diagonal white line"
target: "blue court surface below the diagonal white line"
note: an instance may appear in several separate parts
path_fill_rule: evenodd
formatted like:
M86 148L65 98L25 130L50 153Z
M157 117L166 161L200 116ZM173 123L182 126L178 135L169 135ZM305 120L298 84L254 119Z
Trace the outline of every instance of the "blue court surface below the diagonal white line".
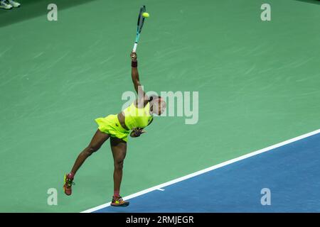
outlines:
M95 212L320 212L319 173L320 133Z

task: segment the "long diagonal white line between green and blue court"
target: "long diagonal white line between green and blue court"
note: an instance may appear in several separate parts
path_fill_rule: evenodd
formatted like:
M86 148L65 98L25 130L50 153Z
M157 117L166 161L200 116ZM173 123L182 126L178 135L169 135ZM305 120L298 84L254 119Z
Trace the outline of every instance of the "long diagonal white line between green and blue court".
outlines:
M152 191L154 191L154 190L156 190L156 189L161 189L162 187L166 187L166 186L168 186L168 185L175 184L175 183L177 183L177 182L181 182L181 181L183 181L183 180L185 180L185 179L189 179L189 178L191 178L191 177L195 177L195 176L201 175L201 174L203 174L203 173L205 173L205 172L209 172L209 171L211 171L211 170L218 169L218 168L223 167L223 166L225 166L225 165L230 165L231 163L238 162L238 161L240 161L240 160L244 160L245 158L248 158L248 157L252 157L252 156L255 156L255 155L259 155L259 154L261 154L261 153L265 153L265 152L267 152L268 150L272 150L272 149L274 149L274 148L279 148L279 147L281 147L281 146L283 146L283 145L287 145L287 144L289 144L289 143L293 143L293 142L295 142L295 141L297 141L297 140L302 140L302 139L304 139L304 138L307 138L307 137L309 137L309 136L311 136L311 135L316 135L316 134L318 134L318 133L320 133L320 129L318 129L318 130L316 130L316 131L312 131L311 133L306 133L306 134L304 134L304 135L299 135L299 136L297 136L297 137L295 137L295 138L292 138L292 139L289 139L289 140L285 140L285 141L283 141L283 142L281 142L281 143L277 143L277 144L271 145L271 146L269 146L269 147L267 147L267 148L263 148L263 149L261 149L261 150L256 150L256 151L254 151L254 152L252 152L252 153L248 153L247 155L242 155L242 156L240 156L240 157L236 157L236 158L234 158L234 159L232 159L232 160L228 160L228 161L226 161L226 162L222 162L222 163L220 163L220 164L218 164L218 165L213 165L213 166L208 167L208 168L206 168L206 169L204 169L204 170L199 170L199 171L197 171L197 172L193 172L193 173L191 173L190 175L186 175L186 176L183 176L183 177L179 177L179 178L173 179L173 180L171 180L171 181L169 181L169 182L166 182L166 183L163 183L163 184L159 184L159 185L156 185L156 186L154 186L154 187L150 187L149 189L144 189L143 191L140 191L140 192L137 192L137 193L134 193L134 194L130 194L129 196L125 196L123 199L124 199L124 200L127 200L127 199L132 199L132 198L137 197L137 196L141 196L142 194L146 194L146 193L148 193L148 192L152 192ZM85 210L85 211L82 211L81 213L91 213L91 212L93 212L93 211L97 211L97 210L102 209L102 208L105 208L105 207L107 207L107 206L110 206L110 202L107 203L107 204L102 204L102 205L100 205L100 206L95 206L95 207L93 207L92 209L87 209L87 210Z

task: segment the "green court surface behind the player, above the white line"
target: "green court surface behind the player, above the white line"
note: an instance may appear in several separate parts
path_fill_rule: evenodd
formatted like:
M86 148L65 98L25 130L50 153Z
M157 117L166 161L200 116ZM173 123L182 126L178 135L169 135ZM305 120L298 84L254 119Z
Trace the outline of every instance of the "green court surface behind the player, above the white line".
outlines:
M320 5L311 1L26 1L0 11L0 211L78 212L110 201L109 141L63 175L121 110L137 13L146 90L198 92L198 123L156 118L129 138L122 196L320 128ZM272 7L261 21L260 6ZM315 4L312 4L315 3ZM58 189L58 206L47 191Z

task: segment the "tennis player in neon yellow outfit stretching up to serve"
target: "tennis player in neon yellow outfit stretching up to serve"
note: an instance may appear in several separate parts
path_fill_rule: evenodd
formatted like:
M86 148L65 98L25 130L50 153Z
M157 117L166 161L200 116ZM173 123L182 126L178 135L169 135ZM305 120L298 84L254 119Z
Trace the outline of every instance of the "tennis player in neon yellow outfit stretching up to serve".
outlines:
M130 135L135 138L145 133L144 128L153 121L154 114L160 115L166 109L166 102L160 96L149 97L144 93L137 69L137 53L131 52L130 57L132 60L132 82L138 94L138 99L119 114L111 114L105 118L95 119L98 125L97 132L87 148L78 155L71 172L65 175L63 189L68 196L72 193L73 179L80 166L87 157L99 150L101 145L110 138L114 159L114 195L111 206L129 205L129 201L124 201L119 194L124 157L126 157L127 153L127 137Z

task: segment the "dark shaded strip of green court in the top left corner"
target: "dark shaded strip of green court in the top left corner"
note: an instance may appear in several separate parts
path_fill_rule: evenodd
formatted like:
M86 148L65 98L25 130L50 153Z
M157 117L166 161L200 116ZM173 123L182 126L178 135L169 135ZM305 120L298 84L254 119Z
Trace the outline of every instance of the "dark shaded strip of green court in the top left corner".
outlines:
M56 4L58 6L58 13L61 9L67 9L72 6L78 6L95 0L26 0L19 1L21 7L10 10L0 9L0 28L9 26L13 23L28 20L36 16L46 16L48 13L48 4Z

